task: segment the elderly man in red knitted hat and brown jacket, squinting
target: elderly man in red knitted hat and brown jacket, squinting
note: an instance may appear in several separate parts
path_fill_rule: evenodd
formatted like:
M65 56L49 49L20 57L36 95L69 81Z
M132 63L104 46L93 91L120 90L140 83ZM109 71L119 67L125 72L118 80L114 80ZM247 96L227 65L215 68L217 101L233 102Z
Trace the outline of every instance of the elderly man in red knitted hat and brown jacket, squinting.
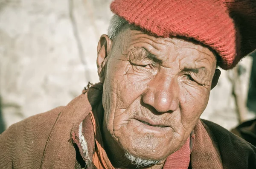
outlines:
M255 169L256 147L201 120L218 66L256 48L256 1L115 0L100 83L0 135L1 169Z

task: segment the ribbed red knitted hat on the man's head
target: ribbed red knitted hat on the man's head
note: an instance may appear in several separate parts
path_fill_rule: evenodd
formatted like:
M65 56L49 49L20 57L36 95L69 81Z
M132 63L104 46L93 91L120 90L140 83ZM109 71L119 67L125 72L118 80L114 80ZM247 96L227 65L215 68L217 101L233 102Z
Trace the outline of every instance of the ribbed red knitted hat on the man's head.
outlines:
M225 70L256 49L256 0L114 0L111 11L156 36L209 46Z

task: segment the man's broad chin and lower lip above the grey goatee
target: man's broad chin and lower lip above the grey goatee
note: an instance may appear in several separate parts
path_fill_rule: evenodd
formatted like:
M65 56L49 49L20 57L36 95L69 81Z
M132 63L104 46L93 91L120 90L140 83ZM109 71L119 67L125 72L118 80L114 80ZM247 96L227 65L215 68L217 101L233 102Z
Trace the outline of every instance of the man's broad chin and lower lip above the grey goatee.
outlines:
M161 161L180 146L180 142L176 142L170 127L159 129L128 123L118 131L116 141L119 146L127 154L143 160Z

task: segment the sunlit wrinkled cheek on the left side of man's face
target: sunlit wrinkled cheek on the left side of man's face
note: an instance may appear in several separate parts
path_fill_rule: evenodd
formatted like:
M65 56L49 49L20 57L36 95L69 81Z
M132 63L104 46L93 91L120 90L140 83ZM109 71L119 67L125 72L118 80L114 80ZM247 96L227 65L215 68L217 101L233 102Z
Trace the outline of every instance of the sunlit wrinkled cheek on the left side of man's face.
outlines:
M132 69L128 62L117 61L108 65L103 88L103 107L108 130L119 130L132 117L142 93L150 81L149 75ZM131 106L132 105L132 106Z

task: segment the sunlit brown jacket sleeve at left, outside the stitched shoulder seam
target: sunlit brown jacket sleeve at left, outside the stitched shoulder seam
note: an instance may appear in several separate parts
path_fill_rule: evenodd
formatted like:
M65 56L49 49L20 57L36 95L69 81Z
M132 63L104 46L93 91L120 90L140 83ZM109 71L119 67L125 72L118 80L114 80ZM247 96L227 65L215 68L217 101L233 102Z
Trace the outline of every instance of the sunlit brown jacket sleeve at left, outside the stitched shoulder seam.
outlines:
M33 115L12 124L0 135L0 168L39 167L44 146L58 115L64 107Z

